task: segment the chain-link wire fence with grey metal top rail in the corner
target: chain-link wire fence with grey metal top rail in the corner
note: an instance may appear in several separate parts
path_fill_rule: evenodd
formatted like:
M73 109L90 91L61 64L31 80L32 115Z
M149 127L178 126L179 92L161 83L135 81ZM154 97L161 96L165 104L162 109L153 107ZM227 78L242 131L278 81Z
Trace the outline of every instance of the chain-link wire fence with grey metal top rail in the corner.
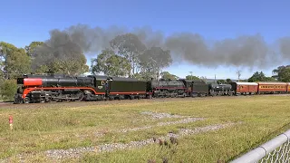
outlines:
M247 152L232 163L290 162L290 129Z

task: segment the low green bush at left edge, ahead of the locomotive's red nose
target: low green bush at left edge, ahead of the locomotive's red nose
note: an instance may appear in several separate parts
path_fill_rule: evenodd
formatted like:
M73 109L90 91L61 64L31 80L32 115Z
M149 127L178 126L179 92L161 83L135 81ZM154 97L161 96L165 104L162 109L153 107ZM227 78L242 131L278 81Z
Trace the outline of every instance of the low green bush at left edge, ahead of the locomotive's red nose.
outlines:
M5 80L0 83L0 96L4 101L14 101L14 94L17 91L15 80Z

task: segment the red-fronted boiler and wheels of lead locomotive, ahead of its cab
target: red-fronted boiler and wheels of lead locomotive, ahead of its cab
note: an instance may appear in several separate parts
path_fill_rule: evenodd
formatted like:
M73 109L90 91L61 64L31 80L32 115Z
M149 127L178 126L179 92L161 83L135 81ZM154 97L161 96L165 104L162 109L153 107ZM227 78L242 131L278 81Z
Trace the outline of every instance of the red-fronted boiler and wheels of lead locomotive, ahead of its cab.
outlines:
M15 103L45 101L82 101L83 91L92 89L93 79L62 74L24 75L17 79L19 85Z

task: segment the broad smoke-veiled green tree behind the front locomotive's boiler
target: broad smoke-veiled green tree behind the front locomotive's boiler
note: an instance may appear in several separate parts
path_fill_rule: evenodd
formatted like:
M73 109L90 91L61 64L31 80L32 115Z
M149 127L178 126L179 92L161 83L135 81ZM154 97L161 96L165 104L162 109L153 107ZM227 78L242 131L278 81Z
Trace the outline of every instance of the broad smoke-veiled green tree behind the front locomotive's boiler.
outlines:
M63 73L79 75L89 72L86 58L78 49L67 51L65 46L72 46L67 42L62 46L51 47L47 43L32 42L25 46L27 55L32 57L35 73Z

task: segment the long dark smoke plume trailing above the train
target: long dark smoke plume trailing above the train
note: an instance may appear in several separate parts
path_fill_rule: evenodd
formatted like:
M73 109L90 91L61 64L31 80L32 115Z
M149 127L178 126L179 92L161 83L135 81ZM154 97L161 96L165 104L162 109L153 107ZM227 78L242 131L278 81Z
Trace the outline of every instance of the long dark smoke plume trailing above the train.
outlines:
M226 65L267 68L290 59L289 37L280 39L279 52L274 52L261 34L242 35L209 44L200 34L178 33L166 37L161 31L153 31L148 26L129 30L118 26L104 29L77 24L63 31L51 31L51 38L37 48L37 54L34 56L35 64L70 60L82 53L92 53L95 57L102 49L110 46L111 39L126 33L136 34L149 49L160 46L164 50L169 50L172 58L206 67Z

